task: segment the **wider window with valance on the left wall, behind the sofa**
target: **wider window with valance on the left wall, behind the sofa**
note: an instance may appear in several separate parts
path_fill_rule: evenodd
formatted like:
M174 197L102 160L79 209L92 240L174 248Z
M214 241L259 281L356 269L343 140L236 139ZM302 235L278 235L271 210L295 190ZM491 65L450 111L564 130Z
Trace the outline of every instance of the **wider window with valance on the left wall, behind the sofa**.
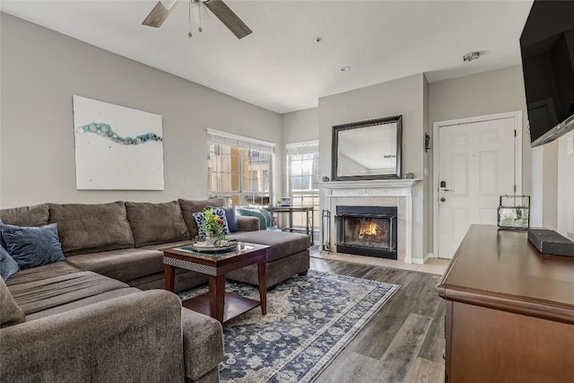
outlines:
M225 196L231 205L270 205L274 144L212 130L207 133L210 197Z

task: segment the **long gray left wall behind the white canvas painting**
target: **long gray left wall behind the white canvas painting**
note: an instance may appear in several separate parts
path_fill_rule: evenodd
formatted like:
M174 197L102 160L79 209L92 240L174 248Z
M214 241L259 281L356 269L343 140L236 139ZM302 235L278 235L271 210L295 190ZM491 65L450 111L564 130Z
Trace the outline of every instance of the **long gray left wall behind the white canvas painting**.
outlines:
M276 143L281 190L280 115L5 13L0 25L3 207L204 198L206 128ZM76 190L74 94L163 116L164 191Z

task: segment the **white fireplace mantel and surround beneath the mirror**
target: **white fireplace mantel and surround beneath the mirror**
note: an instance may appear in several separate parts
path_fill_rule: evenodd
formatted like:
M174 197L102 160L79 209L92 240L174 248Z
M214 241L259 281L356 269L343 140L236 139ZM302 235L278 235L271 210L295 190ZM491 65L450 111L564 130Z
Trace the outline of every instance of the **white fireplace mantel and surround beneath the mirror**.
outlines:
M319 183L321 211L331 213L329 238L321 244L335 252L335 213L337 205L397 206L398 261L413 263L413 197L412 189L418 178L375 179L368 181L333 181Z

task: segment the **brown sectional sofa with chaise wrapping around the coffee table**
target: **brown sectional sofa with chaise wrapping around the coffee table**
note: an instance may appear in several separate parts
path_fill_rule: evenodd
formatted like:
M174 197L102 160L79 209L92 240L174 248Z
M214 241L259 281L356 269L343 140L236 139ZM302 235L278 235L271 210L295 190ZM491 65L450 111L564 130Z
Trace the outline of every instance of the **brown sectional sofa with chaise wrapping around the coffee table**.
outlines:
M222 326L163 289L161 248L189 243L193 213L223 199L164 204L44 204L0 211L5 224L57 223L65 261L0 281L0 376L6 381L219 381ZM309 269L309 237L259 231L238 216L230 239L272 247L267 286ZM257 284L257 269L228 275ZM177 269L176 289L207 282ZM140 290L141 289L141 290ZM143 291L142 291L143 290ZM150 291L146 291L150 290ZM183 352L182 352L183 350Z

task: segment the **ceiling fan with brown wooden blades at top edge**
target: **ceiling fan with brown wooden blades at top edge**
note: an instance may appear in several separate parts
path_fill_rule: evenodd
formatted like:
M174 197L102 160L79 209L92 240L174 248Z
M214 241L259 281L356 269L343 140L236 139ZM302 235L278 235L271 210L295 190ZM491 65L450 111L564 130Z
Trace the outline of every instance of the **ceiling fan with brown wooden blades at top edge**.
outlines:
M239 19L238 15L230 10L222 0L190 0L192 3L203 3L238 39L243 39L251 30L245 22ZM142 24L154 28L160 28L161 24L170 15L178 0L159 1L147 15Z

